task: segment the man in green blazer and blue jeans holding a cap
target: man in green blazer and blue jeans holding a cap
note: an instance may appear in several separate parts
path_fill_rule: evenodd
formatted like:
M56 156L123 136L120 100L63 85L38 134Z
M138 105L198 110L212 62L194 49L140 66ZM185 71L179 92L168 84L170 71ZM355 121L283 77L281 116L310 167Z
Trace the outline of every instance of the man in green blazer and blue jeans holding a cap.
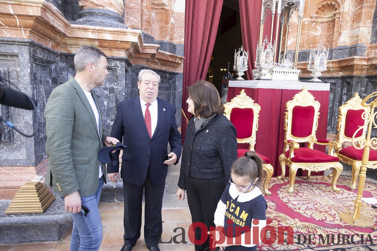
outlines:
M70 250L97 251L102 241L98 202L106 183L106 167L97 153L119 140L102 134L100 106L92 91L109 75L106 55L83 46L74 63L76 76L52 91L44 110L49 158L45 183L64 197L65 209L72 213Z

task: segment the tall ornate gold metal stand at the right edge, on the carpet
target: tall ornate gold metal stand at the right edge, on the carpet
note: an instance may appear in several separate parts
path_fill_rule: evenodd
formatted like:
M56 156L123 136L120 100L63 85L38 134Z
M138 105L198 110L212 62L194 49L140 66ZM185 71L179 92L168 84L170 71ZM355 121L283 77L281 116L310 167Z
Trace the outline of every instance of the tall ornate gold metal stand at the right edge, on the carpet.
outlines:
M367 104L366 102L372 99L372 101ZM359 184L357 188L357 196L356 196L356 201L355 201L355 207L354 207L354 212L352 214L351 210L349 210L349 206L346 207L346 211L342 212L339 214L340 219L343 221L347 222L350 225L354 226L359 226L359 227L372 227L374 225L374 219L371 218L370 216L365 216L360 213L360 210L362 209L362 206L365 205L365 203L362 203L362 198L363 198L363 190L364 190L364 183L365 183L365 174L366 174L366 166L368 165L369 161L369 150L370 148L372 149L377 149L377 145L373 145L377 143L377 138L372 138L371 139L371 131L372 131L372 125L374 125L374 128L377 128L377 123L374 121L375 117L377 117L377 112L374 112L374 108L377 107L377 91L368 95L363 101L361 102L362 106L371 107L371 113L363 113L362 116L364 116L366 119L368 119L368 133L366 135L366 139L364 141L359 140L360 146L355 146L354 141L352 141L352 144L354 145L355 148L362 149L364 148L363 151L363 158L362 158L362 166L361 166L361 171L360 171L360 176L359 176ZM360 131L360 129L363 129L363 127L360 127L355 133L355 135ZM372 144L371 144L372 142Z

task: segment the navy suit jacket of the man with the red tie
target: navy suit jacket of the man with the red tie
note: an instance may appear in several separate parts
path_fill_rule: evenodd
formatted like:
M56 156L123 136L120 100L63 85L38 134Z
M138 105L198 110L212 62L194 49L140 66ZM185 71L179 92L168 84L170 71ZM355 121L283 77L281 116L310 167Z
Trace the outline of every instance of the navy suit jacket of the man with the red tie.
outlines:
M167 143L181 157L182 137L175 121L176 108L165 100L157 98L157 126L152 138L149 138L141 110L140 97L124 100L118 104L111 130L111 137L123 141L127 149L122 155L121 177L124 181L141 186L147 176L148 163L150 178L154 185L165 181L167 175ZM107 164L107 173L119 171L119 166Z

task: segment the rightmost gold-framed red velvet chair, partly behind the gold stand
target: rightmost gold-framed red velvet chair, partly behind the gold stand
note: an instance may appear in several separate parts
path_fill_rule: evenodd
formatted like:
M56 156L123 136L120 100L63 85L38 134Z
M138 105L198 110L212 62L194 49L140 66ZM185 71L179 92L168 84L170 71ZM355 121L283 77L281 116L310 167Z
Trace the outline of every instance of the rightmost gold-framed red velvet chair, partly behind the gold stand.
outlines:
M356 141L357 143L359 140L365 139L368 123L366 116L371 113L371 108L369 106L362 106L361 102L362 99L360 98L359 93L355 93L350 100L339 107L336 140L340 144L352 141ZM355 190L363 158L363 149L357 149L354 146L347 146L343 149L337 149L336 155L339 157L340 161L352 166L350 189ZM372 169L377 168L377 151L373 149L370 149L367 167Z

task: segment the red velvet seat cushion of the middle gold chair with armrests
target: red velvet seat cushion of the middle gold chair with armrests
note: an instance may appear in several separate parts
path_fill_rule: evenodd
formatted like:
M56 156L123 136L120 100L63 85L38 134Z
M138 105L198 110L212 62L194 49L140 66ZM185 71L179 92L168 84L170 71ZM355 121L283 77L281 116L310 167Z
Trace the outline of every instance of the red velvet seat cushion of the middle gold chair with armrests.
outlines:
M334 157L324 152L310 149L310 148L299 148L294 150L294 157L291 158L292 162L295 163L325 163L325 162L339 162L338 157ZM289 150L285 152L285 157L289 158Z

